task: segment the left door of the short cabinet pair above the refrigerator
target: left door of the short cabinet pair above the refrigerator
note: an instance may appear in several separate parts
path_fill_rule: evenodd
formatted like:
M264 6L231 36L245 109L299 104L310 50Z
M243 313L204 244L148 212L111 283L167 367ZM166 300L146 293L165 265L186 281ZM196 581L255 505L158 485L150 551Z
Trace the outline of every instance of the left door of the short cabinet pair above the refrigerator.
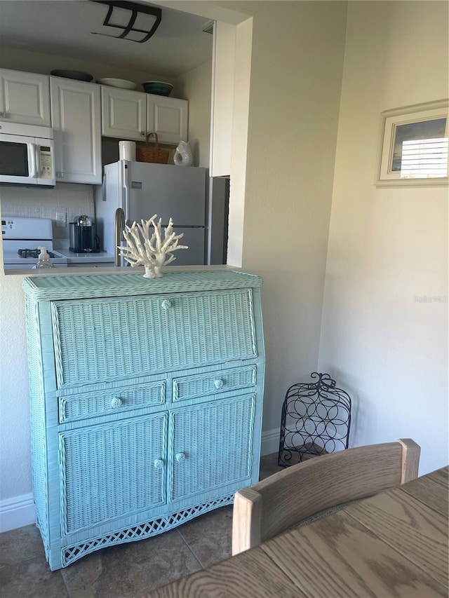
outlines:
M102 86L102 135L142 140L147 130L147 94Z

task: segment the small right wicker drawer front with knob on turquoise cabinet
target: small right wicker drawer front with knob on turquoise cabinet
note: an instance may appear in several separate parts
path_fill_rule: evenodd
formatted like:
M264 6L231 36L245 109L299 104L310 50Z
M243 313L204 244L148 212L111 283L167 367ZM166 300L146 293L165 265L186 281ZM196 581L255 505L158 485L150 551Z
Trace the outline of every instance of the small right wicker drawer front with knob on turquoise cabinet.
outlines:
M230 390L255 386L256 367L218 369L216 372L196 374L173 380L173 400L194 399L205 395L220 395Z

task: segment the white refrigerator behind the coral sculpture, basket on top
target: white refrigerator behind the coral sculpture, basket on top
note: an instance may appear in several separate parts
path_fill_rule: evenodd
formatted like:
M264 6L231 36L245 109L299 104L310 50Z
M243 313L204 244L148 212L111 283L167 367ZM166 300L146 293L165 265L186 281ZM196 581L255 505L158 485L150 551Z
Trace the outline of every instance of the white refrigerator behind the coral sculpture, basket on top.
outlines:
M147 162L119 161L105 166L101 194L95 201L95 221L103 250L114 253L114 221L117 208L126 224L154 214L166 226L170 217L176 233L184 233L174 252L173 266L206 263L206 168ZM126 262L122 261L122 265Z

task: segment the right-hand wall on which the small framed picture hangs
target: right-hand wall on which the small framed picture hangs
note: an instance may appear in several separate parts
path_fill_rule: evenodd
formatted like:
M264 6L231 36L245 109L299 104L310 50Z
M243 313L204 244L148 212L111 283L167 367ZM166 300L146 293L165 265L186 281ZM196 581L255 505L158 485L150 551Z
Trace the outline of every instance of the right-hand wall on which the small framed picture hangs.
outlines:
M448 189L373 181L380 113L447 97L447 50L445 2L349 2L319 369L351 444L412 437L420 473L448 463Z

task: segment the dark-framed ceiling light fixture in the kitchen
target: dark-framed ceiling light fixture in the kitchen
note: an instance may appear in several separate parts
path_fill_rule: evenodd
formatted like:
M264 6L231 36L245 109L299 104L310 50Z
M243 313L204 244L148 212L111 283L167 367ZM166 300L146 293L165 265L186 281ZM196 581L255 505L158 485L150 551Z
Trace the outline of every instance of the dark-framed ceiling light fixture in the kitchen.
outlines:
M156 32L161 24L161 8L145 6L121 0L92 0L98 4L106 4L108 11L103 22L104 27L121 29L121 34L91 32L97 35L128 39L137 43L144 43Z

